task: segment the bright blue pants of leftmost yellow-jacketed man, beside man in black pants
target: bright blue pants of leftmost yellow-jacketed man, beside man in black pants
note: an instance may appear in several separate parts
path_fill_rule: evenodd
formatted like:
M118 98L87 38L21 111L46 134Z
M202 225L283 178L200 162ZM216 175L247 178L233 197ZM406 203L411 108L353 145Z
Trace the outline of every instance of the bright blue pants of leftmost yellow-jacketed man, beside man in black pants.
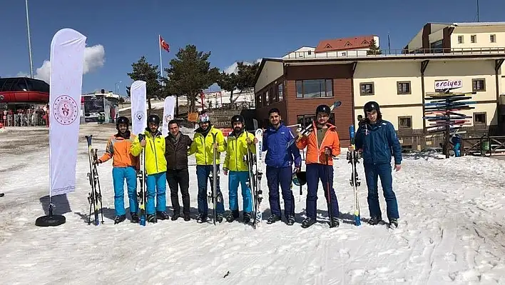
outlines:
M147 194L148 201L146 202L146 214L155 214L155 211L166 211L167 210L167 174L166 172L161 172L157 174L151 174L147 176ZM154 206L154 199L156 198L156 206Z

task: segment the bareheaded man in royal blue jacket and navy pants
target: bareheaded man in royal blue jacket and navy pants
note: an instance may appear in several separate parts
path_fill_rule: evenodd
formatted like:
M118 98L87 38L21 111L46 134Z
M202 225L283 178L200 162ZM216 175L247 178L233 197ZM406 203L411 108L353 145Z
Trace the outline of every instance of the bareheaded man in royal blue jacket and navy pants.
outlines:
M270 201L270 211L272 215L268 218L267 224L280 221L280 196L279 184L282 189L282 199L284 200L284 215L286 224L295 224L295 196L291 190L291 179L293 172L300 171L302 158L300 150L295 144L289 149L285 148L288 141L294 138L291 130L282 123L280 111L277 108L268 111L270 126L263 134L262 151L267 151L265 164L267 165L268 196ZM293 161L295 169L292 170Z

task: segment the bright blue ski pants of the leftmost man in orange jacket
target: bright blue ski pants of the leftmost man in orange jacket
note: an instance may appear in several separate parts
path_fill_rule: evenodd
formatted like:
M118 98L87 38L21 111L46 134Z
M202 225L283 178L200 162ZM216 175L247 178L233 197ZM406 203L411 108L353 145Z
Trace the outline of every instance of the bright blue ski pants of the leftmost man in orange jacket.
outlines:
M126 214L125 210L125 179L126 187L128 189L128 201L130 202L130 213L138 212L137 201L137 171L133 166L129 167L113 167L112 181L114 185L114 209L116 209L116 216Z

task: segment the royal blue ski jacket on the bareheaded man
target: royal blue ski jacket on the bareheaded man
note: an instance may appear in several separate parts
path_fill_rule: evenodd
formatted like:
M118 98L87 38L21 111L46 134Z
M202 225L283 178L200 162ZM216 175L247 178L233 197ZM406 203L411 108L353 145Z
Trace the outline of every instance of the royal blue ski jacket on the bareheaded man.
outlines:
M267 151L265 156L265 164L275 168L291 166L293 160L295 167L300 167L302 157L300 150L296 144L292 144L289 149L286 149L286 144L294 138L291 129L280 123L279 129L269 126L265 134L263 134L262 151Z

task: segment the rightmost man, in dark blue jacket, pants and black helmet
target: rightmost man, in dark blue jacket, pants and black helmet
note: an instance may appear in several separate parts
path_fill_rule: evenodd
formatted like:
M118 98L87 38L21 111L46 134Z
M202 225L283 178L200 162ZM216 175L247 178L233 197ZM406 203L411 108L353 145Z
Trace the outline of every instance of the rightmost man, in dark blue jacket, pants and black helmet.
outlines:
M399 144L394 126L382 119L379 104L369 101L363 107L365 119L356 132L356 149L362 154L364 174L368 187L369 224L382 221L377 191L377 178L380 177L382 191L387 206L389 226L398 227L398 203L392 186L391 151L394 156L394 170L402 169L402 146ZM352 151L352 146L349 147Z

